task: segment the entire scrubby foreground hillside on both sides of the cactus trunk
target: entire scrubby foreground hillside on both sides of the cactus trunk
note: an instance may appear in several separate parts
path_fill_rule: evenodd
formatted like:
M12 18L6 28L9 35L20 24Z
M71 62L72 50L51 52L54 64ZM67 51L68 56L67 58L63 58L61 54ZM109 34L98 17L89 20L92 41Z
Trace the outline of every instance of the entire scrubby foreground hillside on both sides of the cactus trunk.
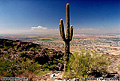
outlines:
M80 77L85 77L84 75L88 75L88 77L120 77L119 55L100 54L95 50L79 51L81 53L74 53L75 58L71 57L70 65L67 66L69 78L80 79ZM0 39L0 78L26 77L29 81L36 81L37 77L40 80L48 80L52 73L55 76L58 75L54 78L59 79L63 75L61 72L63 71L63 55L61 51L32 42ZM107 59L110 60L110 63ZM78 73L75 74L75 72Z

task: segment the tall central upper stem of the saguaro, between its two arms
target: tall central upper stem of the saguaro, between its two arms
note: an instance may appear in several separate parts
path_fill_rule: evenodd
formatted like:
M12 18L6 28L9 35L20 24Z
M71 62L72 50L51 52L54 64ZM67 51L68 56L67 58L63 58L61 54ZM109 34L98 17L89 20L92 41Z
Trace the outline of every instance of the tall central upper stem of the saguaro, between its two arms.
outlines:
M66 5L66 40L69 40L70 36L70 23L69 23L69 3Z

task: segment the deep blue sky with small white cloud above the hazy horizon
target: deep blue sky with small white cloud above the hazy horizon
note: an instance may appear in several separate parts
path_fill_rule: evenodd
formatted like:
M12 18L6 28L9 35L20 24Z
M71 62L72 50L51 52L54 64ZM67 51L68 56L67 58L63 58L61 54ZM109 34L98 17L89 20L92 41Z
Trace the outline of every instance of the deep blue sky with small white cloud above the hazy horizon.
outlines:
M59 33L66 3L74 33L120 33L120 0L0 0L0 34Z

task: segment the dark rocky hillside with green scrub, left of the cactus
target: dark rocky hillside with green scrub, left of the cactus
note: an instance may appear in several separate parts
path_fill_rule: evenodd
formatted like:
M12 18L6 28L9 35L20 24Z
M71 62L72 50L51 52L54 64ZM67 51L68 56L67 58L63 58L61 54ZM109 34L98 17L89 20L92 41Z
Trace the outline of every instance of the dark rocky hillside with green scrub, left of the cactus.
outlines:
M41 75L63 69L63 53L31 42L0 39L0 78Z

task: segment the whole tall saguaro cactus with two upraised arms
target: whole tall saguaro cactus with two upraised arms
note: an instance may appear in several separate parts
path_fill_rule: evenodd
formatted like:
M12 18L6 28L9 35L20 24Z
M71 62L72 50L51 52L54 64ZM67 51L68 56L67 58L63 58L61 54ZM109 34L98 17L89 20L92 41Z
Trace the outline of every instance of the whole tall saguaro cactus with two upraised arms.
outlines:
M63 20L60 20L59 24L59 30L60 35L65 42L65 54L64 54L64 71L66 67L66 63L69 60L69 54L70 54L70 41L72 40L73 36L73 26L70 27L70 19L69 19L69 3L66 4L66 37L64 33L64 26L63 26Z

